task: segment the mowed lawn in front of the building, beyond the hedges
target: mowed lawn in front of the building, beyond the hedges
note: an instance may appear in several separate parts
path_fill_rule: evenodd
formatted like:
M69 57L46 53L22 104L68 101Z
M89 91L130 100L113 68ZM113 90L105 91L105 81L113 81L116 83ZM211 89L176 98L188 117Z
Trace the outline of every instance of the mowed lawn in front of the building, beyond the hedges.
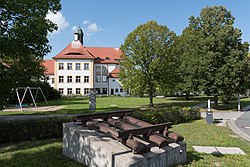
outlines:
M170 107L170 106L193 106L199 103L206 102L207 97L193 97L187 101L184 97L166 97L154 98L156 107ZM57 111L17 111L17 112L0 112L0 115L19 115L19 114L79 114L87 113L89 111L89 100L86 97L72 97L61 98L49 101L49 106L65 106L65 108ZM38 106L45 106L45 103L38 103ZM149 98L139 97L97 97L96 98L96 112L115 111L123 109L138 109L148 108ZM24 108L25 110L25 108Z

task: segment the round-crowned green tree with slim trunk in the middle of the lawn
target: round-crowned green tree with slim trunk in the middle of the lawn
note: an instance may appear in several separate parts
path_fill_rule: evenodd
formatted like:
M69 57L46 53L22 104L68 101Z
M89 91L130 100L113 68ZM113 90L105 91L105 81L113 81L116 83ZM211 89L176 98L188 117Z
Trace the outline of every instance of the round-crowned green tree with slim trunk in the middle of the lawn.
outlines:
M149 94L150 107L158 86L171 86L174 82L177 57L172 54L175 33L155 21L139 25L123 45L120 78L125 89L132 94Z

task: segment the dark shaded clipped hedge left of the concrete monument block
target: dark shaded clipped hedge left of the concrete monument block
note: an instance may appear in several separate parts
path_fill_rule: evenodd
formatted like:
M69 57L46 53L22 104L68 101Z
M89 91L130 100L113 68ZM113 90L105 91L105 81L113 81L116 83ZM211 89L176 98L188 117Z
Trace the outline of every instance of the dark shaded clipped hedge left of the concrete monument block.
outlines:
M0 122L0 144L62 137L62 125L72 117L53 117Z

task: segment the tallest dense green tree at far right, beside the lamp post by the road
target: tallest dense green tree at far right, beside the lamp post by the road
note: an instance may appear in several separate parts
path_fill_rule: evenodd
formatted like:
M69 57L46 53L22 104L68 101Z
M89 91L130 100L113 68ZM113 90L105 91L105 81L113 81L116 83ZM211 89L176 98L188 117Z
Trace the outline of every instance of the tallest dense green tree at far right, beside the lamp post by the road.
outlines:
M235 18L222 6L206 7L199 17L191 16L189 20L189 32L183 35L188 35L192 44L187 45L184 57L190 55L189 63L195 72L192 77L199 81L200 90L214 96L217 107L218 96L227 101L246 90L249 45L242 43L241 31L233 26Z

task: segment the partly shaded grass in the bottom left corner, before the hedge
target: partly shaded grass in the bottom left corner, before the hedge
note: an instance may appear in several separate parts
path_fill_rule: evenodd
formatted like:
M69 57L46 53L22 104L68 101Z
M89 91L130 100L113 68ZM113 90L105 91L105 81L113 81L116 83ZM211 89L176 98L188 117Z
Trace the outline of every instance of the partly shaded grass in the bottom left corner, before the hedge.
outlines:
M82 166L80 163L63 156L61 152L62 142L58 139L0 145L0 166Z

